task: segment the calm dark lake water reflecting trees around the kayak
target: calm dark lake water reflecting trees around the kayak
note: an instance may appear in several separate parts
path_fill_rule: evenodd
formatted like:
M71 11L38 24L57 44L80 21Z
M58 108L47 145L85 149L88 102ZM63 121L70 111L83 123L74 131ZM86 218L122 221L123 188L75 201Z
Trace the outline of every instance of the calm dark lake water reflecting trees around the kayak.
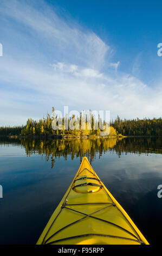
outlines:
M0 138L0 243L36 243L83 156L148 242L161 243L161 141Z

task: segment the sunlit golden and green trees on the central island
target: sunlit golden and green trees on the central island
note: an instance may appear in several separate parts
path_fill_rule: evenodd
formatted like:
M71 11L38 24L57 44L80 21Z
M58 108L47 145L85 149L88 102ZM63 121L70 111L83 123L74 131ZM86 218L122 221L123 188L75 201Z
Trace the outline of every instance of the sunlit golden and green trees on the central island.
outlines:
M53 108L53 113L54 113L54 108ZM52 128L52 122L53 120L56 121L56 125L59 126L60 123L62 124L61 129L53 130ZM99 120L96 121L94 116L90 114L90 120L91 121L91 126L92 129L89 129L90 121L88 115L85 117L82 117L82 114L80 114L79 117L75 117L73 115L72 118L69 118L68 120L64 118L57 118L56 116L53 115L53 117L50 117L50 115L47 113L47 117L40 119L39 121L32 120L31 118L28 119L27 125L25 125L21 131L22 136L27 136L27 135L39 135L39 136L64 136L64 137L84 137L84 136L99 136L100 135L100 127L99 127L99 121L101 121L100 117ZM69 129L66 130L66 123L68 121L68 127ZM71 126L70 126L71 124ZM70 129L73 125L76 125L76 129ZM85 126L85 129L82 129L82 125ZM105 122L103 123L105 125ZM96 130L95 127L98 127ZM113 127L110 127L110 136L118 136L118 132ZM121 136L121 135L119 135Z

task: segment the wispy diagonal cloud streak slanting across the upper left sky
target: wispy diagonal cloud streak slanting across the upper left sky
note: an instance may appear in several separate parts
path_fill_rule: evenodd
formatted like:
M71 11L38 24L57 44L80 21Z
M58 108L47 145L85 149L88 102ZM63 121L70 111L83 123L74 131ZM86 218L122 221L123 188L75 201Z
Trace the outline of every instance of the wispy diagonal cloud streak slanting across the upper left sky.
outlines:
M44 53L48 46L51 51L57 47L55 53L63 54L63 58L67 57L93 68L100 68L103 65L109 46L95 33L85 32L70 20L66 22L60 19L45 2L39 1L37 4L37 7L41 5L41 10L27 4L26 1L1 2L1 15L16 21L30 33L30 36L38 36L40 44L44 42Z

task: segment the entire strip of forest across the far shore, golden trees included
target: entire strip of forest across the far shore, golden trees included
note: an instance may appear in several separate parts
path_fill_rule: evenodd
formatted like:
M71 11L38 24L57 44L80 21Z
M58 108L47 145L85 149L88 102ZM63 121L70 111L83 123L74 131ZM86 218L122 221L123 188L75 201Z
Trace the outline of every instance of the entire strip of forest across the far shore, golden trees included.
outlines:
M85 119L85 130L81 129L81 121L79 121L79 129L65 130L64 118L62 118L62 129L53 130L52 122L54 117L50 117L47 113L46 118L42 118L38 121L28 119L26 125L22 126L2 126L0 127L0 136L21 136L21 137L99 137L100 127L98 121L98 129L95 127L95 119L92 115L92 129L88 129L88 120ZM81 119L80 119L81 120ZM68 119L68 122L72 121L72 118ZM73 116L73 124L75 125L75 116ZM103 122L104 124L104 122ZM162 119L132 119L122 120L119 117L110 124L110 133L108 137L122 137L122 136L162 136Z

